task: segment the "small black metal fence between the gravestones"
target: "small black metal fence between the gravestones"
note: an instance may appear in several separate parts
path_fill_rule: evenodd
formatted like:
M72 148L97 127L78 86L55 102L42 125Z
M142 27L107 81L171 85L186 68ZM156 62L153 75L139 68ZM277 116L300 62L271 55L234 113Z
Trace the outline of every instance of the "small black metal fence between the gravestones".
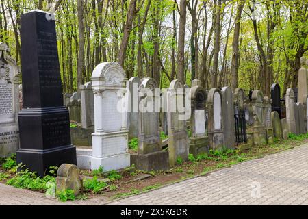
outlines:
M239 110L238 107L235 107L234 120L235 120L235 143L237 145L247 143L246 120L245 120L244 110Z

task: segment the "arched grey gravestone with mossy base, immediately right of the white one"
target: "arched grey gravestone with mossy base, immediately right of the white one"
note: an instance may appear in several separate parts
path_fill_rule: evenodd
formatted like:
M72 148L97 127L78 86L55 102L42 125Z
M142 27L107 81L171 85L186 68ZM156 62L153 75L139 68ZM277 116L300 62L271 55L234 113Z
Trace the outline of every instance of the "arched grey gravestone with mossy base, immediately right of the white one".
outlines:
M168 151L162 151L159 133L160 91L157 82L144 78L139 87L138 153L131 154L131 164L140 170L167 170Z

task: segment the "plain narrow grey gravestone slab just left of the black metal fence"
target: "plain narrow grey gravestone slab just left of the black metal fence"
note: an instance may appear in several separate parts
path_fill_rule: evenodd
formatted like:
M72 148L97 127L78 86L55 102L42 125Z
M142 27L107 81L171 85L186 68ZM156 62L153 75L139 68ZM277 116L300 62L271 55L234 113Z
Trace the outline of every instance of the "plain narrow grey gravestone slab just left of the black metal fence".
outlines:
M230 87L222 88L223 112L224 112L224 146L233 149L235 146L235 120L233 94Z

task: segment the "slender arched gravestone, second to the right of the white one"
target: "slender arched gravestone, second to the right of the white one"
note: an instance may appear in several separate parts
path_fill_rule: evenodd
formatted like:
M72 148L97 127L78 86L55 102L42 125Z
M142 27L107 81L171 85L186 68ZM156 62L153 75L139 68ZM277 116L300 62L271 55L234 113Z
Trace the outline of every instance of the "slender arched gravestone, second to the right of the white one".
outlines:
M187 160L189 153L184 99L183 83L179 79L171 81L167 90L168 151L171 166L177 164L178 157Z

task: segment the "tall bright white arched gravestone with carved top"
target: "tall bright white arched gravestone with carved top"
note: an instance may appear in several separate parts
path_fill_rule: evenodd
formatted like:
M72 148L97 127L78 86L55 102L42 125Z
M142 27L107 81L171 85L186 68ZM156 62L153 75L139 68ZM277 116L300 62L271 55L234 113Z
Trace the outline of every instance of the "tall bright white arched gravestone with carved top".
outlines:
M95 120L91 169L103 166L108 171L130 166L123 107L127 81L125 72L118 63L105 62L94 68L91 80Z

